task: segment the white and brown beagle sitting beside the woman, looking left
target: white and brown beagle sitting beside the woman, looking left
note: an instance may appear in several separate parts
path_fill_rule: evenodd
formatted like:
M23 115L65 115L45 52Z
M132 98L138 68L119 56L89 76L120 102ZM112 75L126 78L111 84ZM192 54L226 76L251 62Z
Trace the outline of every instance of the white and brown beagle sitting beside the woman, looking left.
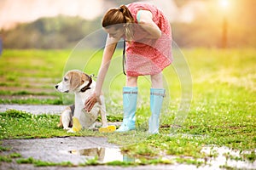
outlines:
M90 112L84 110L85 100L93 94L96 87L96 82L91 79L90 89L87 89L85 92L81 92L81 89L88 85L90 79L91 78L82 71L67 71L62 81L55 86L55 88L61 93L75 94L73 116L71 107L67 107L66 110L61 113L59 125L60 127L63 126L64 129L68 130L67 132L73 133L73 117L76 117L79 120L83 128L93 128L95 127L97 117L101 115L102 127L108 127L106 106L103 95L100 96L102 105L96 103Z

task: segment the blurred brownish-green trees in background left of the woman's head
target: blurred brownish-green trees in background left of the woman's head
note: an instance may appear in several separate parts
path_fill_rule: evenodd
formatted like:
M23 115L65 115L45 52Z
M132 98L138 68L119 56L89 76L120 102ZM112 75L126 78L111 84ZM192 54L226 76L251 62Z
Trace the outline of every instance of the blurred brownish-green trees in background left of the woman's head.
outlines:
M57 16L41 18L3 31L5 48L73 48L83 37L101 28L99 20ZM99 38L94 40L100 41Z

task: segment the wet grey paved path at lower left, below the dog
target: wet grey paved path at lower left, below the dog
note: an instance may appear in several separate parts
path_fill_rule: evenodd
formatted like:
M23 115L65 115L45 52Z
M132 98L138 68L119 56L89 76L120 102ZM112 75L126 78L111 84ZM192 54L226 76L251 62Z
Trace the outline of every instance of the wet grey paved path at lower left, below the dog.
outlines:
M41 161L62 162L70 161L74 165L84 163L85 156L79 153L72 154L72 150L84 150L98 147L118 148L117 145L108 144L106 138L96 137L62 137L51 139L7 139L3 146L12 146L12 151L20 153L24 158L33 157ZM95 155L96 156L96 155ZM87 158L94 158L91 151Z

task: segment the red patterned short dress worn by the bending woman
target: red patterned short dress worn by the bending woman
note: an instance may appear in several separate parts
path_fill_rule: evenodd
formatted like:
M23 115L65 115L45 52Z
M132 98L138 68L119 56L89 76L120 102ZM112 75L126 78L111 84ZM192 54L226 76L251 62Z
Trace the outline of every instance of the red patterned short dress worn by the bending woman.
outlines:
M131 3L127 6L135 20L133 40L126 42L126 74L129 77L154 75L172 63L172 31L166 16L150 3ZM154 23L160 28L158 39L145 38L148 35L137 24L139 10L149 10Z

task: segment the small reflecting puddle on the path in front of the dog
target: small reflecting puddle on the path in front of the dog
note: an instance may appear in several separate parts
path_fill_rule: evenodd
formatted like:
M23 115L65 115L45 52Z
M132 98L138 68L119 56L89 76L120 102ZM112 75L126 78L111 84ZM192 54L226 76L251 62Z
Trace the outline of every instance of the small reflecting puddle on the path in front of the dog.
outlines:
M134 158L123 155L119 148L99 147L84 150L70 150L69 153L77 156L86 156L89 159L97 156L98 161L101 161L102 163L110 161L135 161Z

